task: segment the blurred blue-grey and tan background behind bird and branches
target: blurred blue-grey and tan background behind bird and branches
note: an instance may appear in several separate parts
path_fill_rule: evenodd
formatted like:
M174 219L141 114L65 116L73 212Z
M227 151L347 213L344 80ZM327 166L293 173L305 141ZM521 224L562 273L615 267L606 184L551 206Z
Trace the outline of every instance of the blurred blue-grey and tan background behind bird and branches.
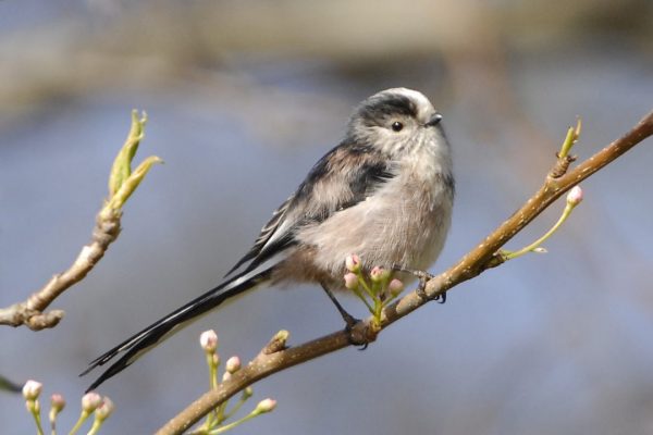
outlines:
M99 374L77 377L86 363L214 286L367 96L406 86L444 114L457 198L433 272L540 186L577 116L587 158L653 108L646 0L5 0L0 35L0 306L89 239L131 109L149 114L137 160L165 160L106 258L53 304L61 324L0 328L0 374L62 393L62 428ZM278 409L233 433L652 433L652 164L649 139L583 183L547 254L456 287L364 352L260 382L251 406ZM102 385L116 403L103 433L151 433L208 388L201 331L248 360L281 328L298 344L341 326L317 287L249 294ZM0 393L0 422L34 433L17 395Z

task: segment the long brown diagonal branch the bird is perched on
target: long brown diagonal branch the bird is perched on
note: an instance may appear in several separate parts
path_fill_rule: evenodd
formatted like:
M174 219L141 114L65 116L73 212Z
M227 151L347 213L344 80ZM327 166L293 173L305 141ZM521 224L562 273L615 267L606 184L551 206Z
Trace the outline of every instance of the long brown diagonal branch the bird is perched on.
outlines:
M369 318L357 324L354 333L361 334L369 340L373 340L380 331L426 304L429 300L443 295L455 285L503 263L504 259L498 253L498 249L544 211L544 209L551 206L553 201L652 134L653 112L644 116L630 132L571 171L566 172L569 162L565 164L565 162L558 160L546 176L542 187L516 213L501 224L498 228L475 249L463 257L454 266L427 283L427 298L420 297L417 291L411 291L385 308L379 327L373 327L372 318ZM568 158L564 157L562 159ZM560 171L560 167L564 170ZM279 334L275 338L279 340ZM204 394L170 420L157 434L181 434L217 406L223 403L237 391L255 382L347 346L349 346L349 338L348 334L344 331L335 332L291 348L285 347L285 339L281 345L279 343L274 346L269 344L264 349L273 348L274 351L261 351L247 366L234 373L231 380L220 384L215 389Z

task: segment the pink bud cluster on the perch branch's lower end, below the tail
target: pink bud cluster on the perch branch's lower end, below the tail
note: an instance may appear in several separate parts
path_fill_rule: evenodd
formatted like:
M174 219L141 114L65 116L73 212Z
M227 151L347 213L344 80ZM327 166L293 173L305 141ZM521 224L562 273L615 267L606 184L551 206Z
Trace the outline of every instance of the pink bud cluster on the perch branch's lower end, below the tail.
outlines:
M210 386L211 389L218 388L218 376L219 376L219 366L221 363L220 357L218 355L218 334L213 330L205 331L199 336L199 344L205 351L207 358L207 365L209 366L209 376L210 376ZM224 363L224 373L222 373L222 382L231 381L232 376L236 374L242 369L241 358L237 356L233 356L226 360ZM222 434L244 422L250 420L257 415L260 415L266 412L270 412L276 406L276 401L273 399L264 399L261 400L256 408L247 415L243 417L239 420L236 420L232 423L224 424L226 420L234 417L236 412L245 405L245 402L254 395L254 389L251 387L246 387L241 394L241 398L238 401L227 410L229 401L219 406L214 411L207 415L205 423L201 428L196 431L196 433L202 434Z

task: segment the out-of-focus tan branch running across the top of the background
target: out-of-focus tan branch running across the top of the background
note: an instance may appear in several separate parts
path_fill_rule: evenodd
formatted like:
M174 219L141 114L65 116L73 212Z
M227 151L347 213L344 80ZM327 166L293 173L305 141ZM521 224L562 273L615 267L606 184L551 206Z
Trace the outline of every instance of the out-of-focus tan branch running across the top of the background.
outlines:
M214 95L236 94L231 100L247 104L247 96L264 87L247 66L267 61L316 59L343 75L369 75L396 67L397 60L410 67L427 58L447 72L441 90L449 89L452 98L476 108L478 119L485 120L483 129L495 132L494 120L519 121L517 135L528 133L532 140L537 128L519 110L508 79L508 51L546 50L570 35L582 44L581 35L600 32L606 22L633 44L650 45L650 2L642 0L581 0L565 8L546 2L490 7L472 0L418 0L410 8L393 2L379 7L373 0L150 0L138 7L88 1L87 20L71 17L64 25L3 37L0 59L11 62L0 69L1 122L46 101L98 89L156 90L188 79ZM280 104L274 98L268 104L260 110L270 116L268 109Z

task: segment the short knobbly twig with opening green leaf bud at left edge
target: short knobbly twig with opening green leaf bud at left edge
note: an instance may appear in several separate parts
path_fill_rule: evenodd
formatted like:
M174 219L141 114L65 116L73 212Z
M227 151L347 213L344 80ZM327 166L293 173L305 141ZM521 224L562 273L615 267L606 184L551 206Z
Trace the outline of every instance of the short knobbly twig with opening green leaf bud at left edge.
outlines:
M63 318L62 310L45 310L59 295L84 279L104 252L120 234L120 219L122 207L132 192L140 184L149 169L161 160L151 156L145 159L134 172L132 172L132 160L143 139L143 129L146 117L132 113L132 128L125 145L118 153L111 174L109 176L109 198L96 217L91 240L82 248L82 251L73 264L63 273L52 278L38 291L29 296L26 301L14 303L0 309L0 325L20 326L26 325L33 331L39 331L56 326Z

